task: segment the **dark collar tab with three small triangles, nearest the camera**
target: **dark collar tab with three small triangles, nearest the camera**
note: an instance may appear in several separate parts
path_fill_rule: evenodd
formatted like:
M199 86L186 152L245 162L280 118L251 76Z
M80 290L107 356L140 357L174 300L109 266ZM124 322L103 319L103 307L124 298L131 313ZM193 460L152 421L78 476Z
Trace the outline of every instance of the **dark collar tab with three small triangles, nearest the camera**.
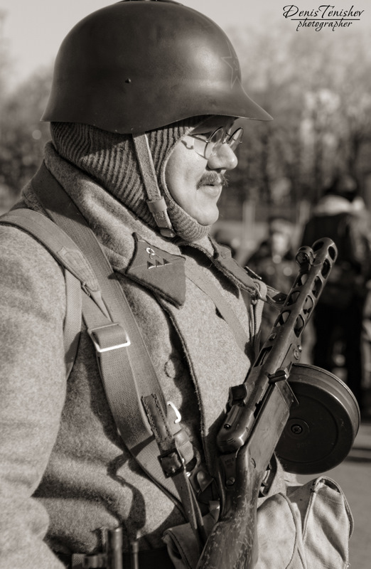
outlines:
M127 268L128 277L153 289L173 304L184 304L185 258L158 249L138 233L133 235L135 250Z

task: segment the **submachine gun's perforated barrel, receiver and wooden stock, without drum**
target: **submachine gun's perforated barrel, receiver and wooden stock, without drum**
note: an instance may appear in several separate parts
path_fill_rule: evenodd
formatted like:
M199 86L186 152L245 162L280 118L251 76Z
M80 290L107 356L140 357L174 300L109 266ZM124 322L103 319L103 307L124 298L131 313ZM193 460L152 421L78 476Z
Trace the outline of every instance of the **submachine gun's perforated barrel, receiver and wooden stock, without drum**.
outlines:
M335 243L328 238L299 249L299 275L271 334L244 383L230 388L230 410L217 435L221 514L197 569L253 569L256 564L259 490L296 401L287 380L300 359L301 334L336 256Z

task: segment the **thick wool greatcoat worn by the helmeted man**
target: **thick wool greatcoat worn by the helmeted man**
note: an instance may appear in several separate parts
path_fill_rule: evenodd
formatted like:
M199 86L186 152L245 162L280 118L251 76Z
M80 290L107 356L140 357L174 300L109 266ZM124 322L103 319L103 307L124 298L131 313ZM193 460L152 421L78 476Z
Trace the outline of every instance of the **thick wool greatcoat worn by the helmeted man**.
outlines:
M102 243L166 400L180 410L193 443L215 472L215 432L228 388L242 383L249 369L262 302L246 307L242 282L215 264L209 238L197 248L179 247L134 218L51 145L45 164ZM32 182L23 190L21 206L43 211ZM156 290L147 277L128 278L133 233L164 252L183 255L185 264L200 265L240 319L249 337L246 353L213 300L184 274L171 282L162 268ZM183 516L146 477L117 434L85 329L65 380L63 270L41 244L17 228L0 226L0 240L0 568L61 569L51 549L94 551L100 528L117 523L124 527L124 548L134 538L141 549L163 546L163 531L184 523Z

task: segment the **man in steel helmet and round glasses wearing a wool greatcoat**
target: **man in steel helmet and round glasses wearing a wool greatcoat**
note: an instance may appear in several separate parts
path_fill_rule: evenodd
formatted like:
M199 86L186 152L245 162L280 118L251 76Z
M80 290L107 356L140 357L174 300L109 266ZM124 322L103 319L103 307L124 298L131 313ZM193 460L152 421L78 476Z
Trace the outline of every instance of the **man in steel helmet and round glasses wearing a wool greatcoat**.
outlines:
M94 232L87 254L97 238L144 339L129 364L149 355L173 412L161 425L147 413L152 431L161 445L168 437L156 430L181 422L192 450L182 460L205 516L217 504L215 435L229 386L244 381L254 358L265 291L208 236L225 172L237 165L236 117L271 118L242 89L235 51L212 21L170 1L108 6L77 23L60 48L43 116L52 142L15 211L54 218L62 200L64 222L75 216L77 232ZM125 366L113 396L100 377L106 355L130 354L140 341L129 333L105 351L97 334L107 326L92 331L85 320L66 381L68 271L16 227L1 226L1 238L1 569L82 567L84 554L93 555L84 566L105 566L99 555L113 539L105 528L117 527L124 566L136 546L141 568L185 566L170 559L163 533L185 526L185 511L199 514L157 473L159 452L142 459L154 437L141 415L153 400L135 389L129 396ZM61 259L68 250L57 252ZM74 250L73 260L78 273L84 257ZM89 265L86 274L82 303L107 312ZM136 421L149 430L138 444ZM276 462L273 473L269 495L286 494ZM167 543L171 551L169 534Z

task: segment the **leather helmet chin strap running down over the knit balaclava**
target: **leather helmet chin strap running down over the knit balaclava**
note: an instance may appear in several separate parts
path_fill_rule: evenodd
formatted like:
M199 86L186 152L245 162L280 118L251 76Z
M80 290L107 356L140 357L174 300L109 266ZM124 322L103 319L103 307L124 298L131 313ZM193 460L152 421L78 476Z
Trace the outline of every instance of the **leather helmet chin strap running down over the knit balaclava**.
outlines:
M141 177L144 181L144 187L147 193L147 205L156 221L156 225L160 228L161 235L164 237L175 237L176 233L171 225L168 217L165 199L161 196L160 188L158 188L156 171L154 169L154 161L149 148L146 133L133 134L136 158L138 159Z

